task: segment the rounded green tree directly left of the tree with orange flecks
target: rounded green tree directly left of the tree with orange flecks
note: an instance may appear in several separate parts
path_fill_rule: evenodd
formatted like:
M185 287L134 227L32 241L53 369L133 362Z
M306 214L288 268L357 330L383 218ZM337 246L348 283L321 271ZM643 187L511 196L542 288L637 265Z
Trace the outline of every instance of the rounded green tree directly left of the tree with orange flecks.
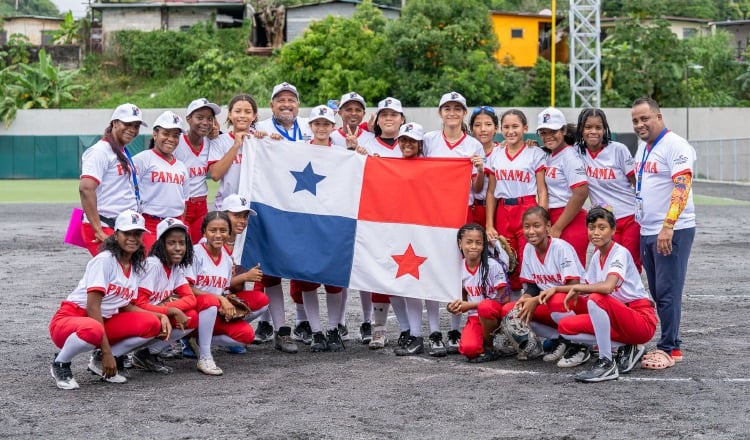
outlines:
M365 0L352 18L328 16L281 49L279 79L295 84L303 104L318 105L355 90L369 100L383 97L389 82L382 54L388 51L385 17Z

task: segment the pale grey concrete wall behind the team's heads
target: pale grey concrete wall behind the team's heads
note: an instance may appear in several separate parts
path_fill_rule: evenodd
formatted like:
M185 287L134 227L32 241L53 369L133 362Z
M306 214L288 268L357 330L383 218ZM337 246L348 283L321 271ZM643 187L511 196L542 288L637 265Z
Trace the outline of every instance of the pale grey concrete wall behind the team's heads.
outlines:
M187 104L187 100L185 102ZM137 103L136 103L137 104ZM507 108L497 107L502 113ZM152 123L164 110L173 110L183 115L185 108L176 109L143 109L146 122ZM369 107L368 115L374 107ZM536 116L542 108L522 108L529 119L529 130L536 129ZM578 110L561 108L570 122L578 119ZM300 115L307 116L309 109L301 109ZM612 131L632 133L630 109L605 109ZM440 119L436 108L407 108L404 110L408 121L416 121L427 130L440 128ZM16 120L7 129L0 125L0 137L3 135L87 135L100 134L109 122L112 110L19 110ZM684 136L686 133L686 112L684 108L662 109L667 126ZM261 108L260 117L270 115L267 108ZM222 115L226 119L226 107ZM736 139L750 138L750 108L691 108L690 139ZM0 142L2 140L0 139Z

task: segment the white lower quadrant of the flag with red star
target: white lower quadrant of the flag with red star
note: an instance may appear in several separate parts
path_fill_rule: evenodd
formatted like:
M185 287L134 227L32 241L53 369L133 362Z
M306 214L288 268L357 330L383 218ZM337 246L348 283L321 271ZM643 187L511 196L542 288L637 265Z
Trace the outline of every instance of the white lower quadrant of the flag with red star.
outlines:
M360 220L349 287L440 301L460 298L456 230Z

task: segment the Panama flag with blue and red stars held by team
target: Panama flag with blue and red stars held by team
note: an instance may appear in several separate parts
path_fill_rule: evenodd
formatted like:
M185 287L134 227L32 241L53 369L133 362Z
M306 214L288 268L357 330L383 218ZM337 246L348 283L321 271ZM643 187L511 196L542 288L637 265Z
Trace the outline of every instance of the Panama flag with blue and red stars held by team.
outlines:
M243 147L250 217L242 265L264 274L414 298L461 294L456 232L468 159L392 159L269 139Z

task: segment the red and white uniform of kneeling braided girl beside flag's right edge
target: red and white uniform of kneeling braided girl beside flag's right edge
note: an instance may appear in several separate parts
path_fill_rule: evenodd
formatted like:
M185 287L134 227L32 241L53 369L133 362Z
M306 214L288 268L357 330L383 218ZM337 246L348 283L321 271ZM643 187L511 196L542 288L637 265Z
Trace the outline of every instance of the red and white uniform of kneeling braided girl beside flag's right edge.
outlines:
M500 292L507 285L505 272L494 259L490 258L488 263L486 293L482 289L481 265L472 271L464 259L461 271L461 284L466 291L467 301L478 304L477 309L469 310L469 318L458 342L458 352L469 359L479 356L484 351L484 331L479 318L499 319L502 312L499 300ZM490 316L487 316L488 314Z

